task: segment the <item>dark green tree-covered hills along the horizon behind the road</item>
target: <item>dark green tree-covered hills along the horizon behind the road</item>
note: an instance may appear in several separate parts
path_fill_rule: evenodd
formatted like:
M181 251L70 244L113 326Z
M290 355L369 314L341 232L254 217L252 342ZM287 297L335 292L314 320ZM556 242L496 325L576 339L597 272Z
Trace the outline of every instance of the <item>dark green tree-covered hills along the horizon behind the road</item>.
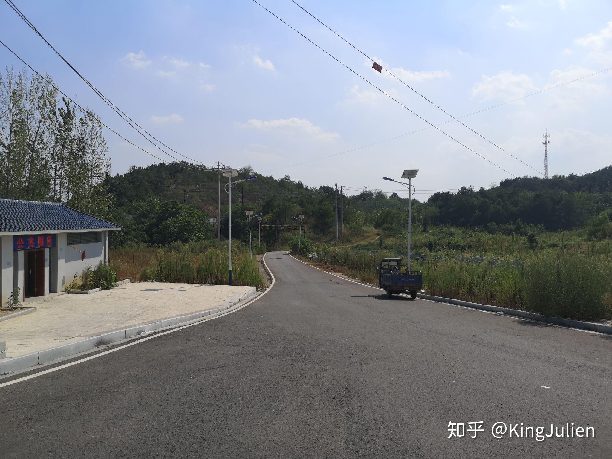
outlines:
M269 224L274 225L295 223L291 215L303 213L307 215L305 224L311 231L320 236L332 236L335 221L333 187L311 188L291 180L289 176L282 179L261 176L250 166L241 168L237 179L252 174L257 175L258 179L233 188L232 209L233 215L237 216L233 222L233 236L248 237L248 226L241 218L245 210L263 212ZM227 179L222 177L221 182L223 188ZM190 236L191 232L199 234L198 238L214 236L206 225L207 218L200 219L201 228L195 228L197 225L193 222L198 219L193 214L190 214L190 219L174 225L184 226L185 233L170 236L170 239L167 234L160 234L160 222L165 218L180 219L182 213L195 209L215 216L216 168L190 163L132 167L126 174L110 177L105 185L114 196L117 208L114 219L126 228L125 243L135 239L161 244L189 239L193 236ZM223 190L221 199L222 231L226 234L228 195ZM170 202L173 204L168 204ZM407 204L406 198L395 193L364 192L344 196L345 236L349 239L351 234L359 234L366 225L392 233L400 232L406 226ZM182 210L187 207L190 211ZM599 237L610 237L612 166L582 176L570 174L551 179L520 177L502 181L499 186L489 189L469 187L461 188L456 193L438 192L425 203L413 201L412 210L414 222L425 228L428 224L452 225L506 234L581 228L597 216L600 220L606 220L602 220L605 228ZM154 217L155 212L162 214ZM128 215L132 217L126 220ZM157 223L145 221L152 218ZM136 233L140 231L140 236L130 235L130 227L138 228ZM168 228L165 231L167 233Z

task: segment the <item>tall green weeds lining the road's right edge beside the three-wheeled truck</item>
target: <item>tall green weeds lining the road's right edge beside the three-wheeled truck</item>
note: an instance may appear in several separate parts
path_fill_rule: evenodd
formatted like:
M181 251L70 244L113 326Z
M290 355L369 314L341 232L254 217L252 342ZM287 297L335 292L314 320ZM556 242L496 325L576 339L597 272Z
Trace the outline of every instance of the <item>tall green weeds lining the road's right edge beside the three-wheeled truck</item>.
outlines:
M392 253L318 247L321 263L377 284L376 266ZM573 319L612 318L612 258L578 250L533 253L523 266L454 259L413 260L425 293Z

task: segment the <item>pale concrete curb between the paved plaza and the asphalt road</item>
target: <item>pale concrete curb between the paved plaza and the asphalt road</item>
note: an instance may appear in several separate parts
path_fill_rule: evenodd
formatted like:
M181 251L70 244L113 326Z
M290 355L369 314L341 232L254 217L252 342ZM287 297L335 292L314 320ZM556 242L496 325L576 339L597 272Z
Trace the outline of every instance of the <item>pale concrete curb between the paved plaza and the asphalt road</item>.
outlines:
M54 348L44 349L43 351L37 351L34 353L24 354L23 356L17 357L6 357L0 359L0 375L6 375L13 373L13 371L25 370L35 365L46 364L51 360L61 359L62 357L69 357L73 354L82 353L85 351L91 351L98 346L108 345L115 343L116 341L125 340L126 338L133 338L137 335L151 332L152 330L162 329L164 327L170 327L176 324L182 324L185 322L200 319L204 316L218 314L233 308L237 303L242 300L252 297L257 292L256 287L252 287L247 293L232 298L218 308L209 309L206 311L195 312L184 316L177 316L173 318L163 319L161 321L155 321L149 324L139 325L136 327L128 327L121 330L115 330L113 332L96 335L93 337L84 338L83 340L68 343L62 346L56 346ZM34 309L34 308L32 308Z

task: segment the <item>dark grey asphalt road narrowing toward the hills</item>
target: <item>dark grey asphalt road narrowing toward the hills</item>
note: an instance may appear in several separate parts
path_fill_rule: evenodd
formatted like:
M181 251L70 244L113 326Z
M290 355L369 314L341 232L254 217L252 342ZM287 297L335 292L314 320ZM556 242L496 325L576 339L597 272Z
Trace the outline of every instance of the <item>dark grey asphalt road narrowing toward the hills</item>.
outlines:
M0 389L0 455L612 457L611 337L266 261L274 287L238 312ZM595 438L496 439L498 421Z

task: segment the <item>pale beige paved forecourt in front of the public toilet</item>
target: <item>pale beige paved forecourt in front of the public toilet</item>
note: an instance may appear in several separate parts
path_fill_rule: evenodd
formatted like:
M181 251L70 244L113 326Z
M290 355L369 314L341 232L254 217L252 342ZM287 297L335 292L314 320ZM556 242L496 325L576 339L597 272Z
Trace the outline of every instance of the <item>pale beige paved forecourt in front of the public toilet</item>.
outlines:
M63 294L28 304L35 312L0 322L6 356L17 357L116 329L200 312L252 287L129 283L89 295Z

